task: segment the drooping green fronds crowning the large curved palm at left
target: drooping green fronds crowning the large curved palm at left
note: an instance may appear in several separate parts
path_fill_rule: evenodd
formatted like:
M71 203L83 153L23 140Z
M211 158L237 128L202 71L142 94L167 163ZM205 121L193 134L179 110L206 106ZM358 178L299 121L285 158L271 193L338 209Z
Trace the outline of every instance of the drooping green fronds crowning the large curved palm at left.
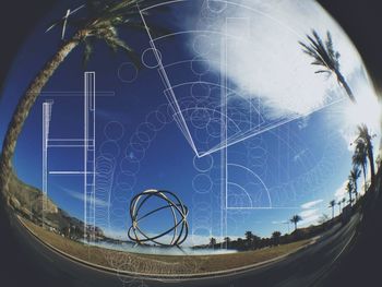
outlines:
M55 21L48 31L63 23L76 31L85 31L85 36L81 39L84 44L84 65L87 64L93 53L94 40L97 39L106 41L114 52L124 51L135 67L140 69L142 65L140 57L119 36L118 31L123 28L145 33L148 29L154 37L170 34L168 29L158 27L158 25L146 27L141 17L141 9L144 8L154 5L155 11L157 8L166 10L167 8L164 8L160 3L163 3L160 0L85 0L85 4L70 12L71 15L75 14L75 16ZM77 13L80 10L81 13ZM144 14L150 14L150 12L145 11Z

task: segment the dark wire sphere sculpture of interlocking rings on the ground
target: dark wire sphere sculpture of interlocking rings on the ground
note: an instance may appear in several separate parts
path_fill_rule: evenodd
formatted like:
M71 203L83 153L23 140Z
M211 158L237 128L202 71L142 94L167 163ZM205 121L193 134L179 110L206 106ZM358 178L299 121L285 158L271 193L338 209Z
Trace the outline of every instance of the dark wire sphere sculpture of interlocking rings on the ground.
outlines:
M141 215L140 211L144 204L147 204L147 202L154 198L163 201L165 205ZM140 228L140 222L163 210L170 210L174 226L158 235L148 236ZM187 222L188 213L188 207L175 193L165 190L146 190L140 194L136 194L130 202L130 217L132 225L129 228L128 236L130 240L138 244L153 242L162 247L179 247L186 241L189 235L189 225ZM169 242L160 241L160 239L168 235L171 236L171 240Z

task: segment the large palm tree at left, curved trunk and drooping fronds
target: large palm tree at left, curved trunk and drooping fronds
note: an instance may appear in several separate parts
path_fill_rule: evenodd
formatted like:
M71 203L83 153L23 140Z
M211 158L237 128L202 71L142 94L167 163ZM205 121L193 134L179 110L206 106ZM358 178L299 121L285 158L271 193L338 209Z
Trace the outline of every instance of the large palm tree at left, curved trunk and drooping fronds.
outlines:
M127 56L139 65L139 57L134 50L123 41L118 34L119 28L130 31L144 31L145 25L141 19L139 5L160 2L156 0L88 0L82 10L86 10L86 17L77 17L73 21L63 19L55 24L72 25L74 33L68 40L63 40L58 51L29 83L24 96L13 112L8 125L0 157L0 189L8 190L8 181L12 172L12 158L16 146L17 137L24 122L43 88L49 82L56 70L65 60L71 51L80 45L84 45L84 61L86 62L93 51L93 44L96 40L104 41L111 50L123 50ZM76 9L79 10L79 9ZM55 25L53 25L55 26ZM52 26L51 26L52 27Z

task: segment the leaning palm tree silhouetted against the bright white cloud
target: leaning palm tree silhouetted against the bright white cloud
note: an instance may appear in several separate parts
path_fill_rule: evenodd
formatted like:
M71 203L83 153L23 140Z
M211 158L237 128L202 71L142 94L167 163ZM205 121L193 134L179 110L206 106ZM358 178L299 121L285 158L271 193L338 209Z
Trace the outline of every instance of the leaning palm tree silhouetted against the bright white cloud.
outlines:
M356 104L356 98L341 72L341 55L338 51L334 50L331 33L326 33L325 43L314 29L312 31L312 36L307 35L308 44L302 41L299 41L299 44L302 46L302 51L313 58L314 61L312 64L321 67L321 70L318 70L315 73L335 74L338 83L345 88L350 100Z

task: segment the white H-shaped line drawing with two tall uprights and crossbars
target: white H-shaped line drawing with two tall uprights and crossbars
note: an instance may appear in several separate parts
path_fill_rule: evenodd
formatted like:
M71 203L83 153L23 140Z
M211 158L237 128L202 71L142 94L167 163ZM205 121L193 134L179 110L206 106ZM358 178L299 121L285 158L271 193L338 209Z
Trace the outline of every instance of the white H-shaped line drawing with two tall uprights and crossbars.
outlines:
M58 93L60 94L60 93ZM50 139L52 100L43 103L43 225L47 212L48 176L83 176L84 179L84 239L92 241L95 238L95 72L84 74L84 137L83 139ZM83 150L83 169L79 170L49 170L48 158L50 148L81 148Z

